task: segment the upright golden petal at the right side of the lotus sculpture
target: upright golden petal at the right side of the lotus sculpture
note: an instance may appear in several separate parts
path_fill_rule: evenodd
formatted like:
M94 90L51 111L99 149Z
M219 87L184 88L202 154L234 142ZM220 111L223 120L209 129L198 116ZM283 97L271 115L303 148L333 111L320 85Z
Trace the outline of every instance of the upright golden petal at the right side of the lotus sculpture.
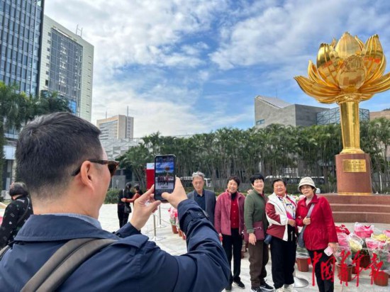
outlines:
M384 74L386 57L384 56L378 35L372 35L367 40L362 50L362 57L364 58L364 66L367 69L366 82L374 81Z

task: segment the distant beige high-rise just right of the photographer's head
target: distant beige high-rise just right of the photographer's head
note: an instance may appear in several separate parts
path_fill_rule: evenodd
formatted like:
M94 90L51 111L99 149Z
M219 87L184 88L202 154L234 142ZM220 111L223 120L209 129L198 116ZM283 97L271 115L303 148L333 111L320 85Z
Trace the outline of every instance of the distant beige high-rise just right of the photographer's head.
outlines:
M133 139L134 118L130 116L113 116L97 120L97 127L101 130L100 140Z

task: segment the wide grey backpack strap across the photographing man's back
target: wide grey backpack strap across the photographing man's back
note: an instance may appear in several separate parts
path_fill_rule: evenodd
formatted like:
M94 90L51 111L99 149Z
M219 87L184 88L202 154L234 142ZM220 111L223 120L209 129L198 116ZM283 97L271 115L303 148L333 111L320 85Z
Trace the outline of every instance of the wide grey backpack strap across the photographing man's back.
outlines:
M117 240L78 238L69 240L26 283L21 291L55 291L83 262Z

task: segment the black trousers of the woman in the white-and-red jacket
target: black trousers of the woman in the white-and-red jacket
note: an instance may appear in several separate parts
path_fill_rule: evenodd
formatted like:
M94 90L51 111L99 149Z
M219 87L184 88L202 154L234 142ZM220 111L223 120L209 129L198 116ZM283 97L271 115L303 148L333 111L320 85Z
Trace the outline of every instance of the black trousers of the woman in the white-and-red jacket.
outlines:
M289 228L290 229L290 228ZM290 233L290 230L289 230ZM272 237L271 259L272 259L272 281L275 289L281 288L284 284L294 283L294 265L296 255L296 236L289 236L289 241Z

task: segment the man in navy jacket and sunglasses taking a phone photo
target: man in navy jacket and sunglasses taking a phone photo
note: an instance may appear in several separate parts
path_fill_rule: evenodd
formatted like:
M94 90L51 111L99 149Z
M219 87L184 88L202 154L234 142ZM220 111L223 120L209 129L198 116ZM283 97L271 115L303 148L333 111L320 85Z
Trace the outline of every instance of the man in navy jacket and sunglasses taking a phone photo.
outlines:
M162 196L179 211L186 254L172 256L140 234L160 205L152 200L153 189L135 201L130 223L116 234L101 229L99 209L118 162L106 160L99 134L71 113L42 116L21 131L18 177L28 186L36 215L0 260L1 291L21 291L65 242L83 237L118 241L87 259L58 291L221 291L230 271L221 243L179 179L174 192Z

